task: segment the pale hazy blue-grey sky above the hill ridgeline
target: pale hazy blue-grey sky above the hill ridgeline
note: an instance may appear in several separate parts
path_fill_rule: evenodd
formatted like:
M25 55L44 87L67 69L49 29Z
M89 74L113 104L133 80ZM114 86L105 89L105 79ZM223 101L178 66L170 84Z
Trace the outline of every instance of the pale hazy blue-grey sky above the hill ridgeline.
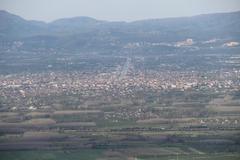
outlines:
M0 0L0 9L25 19L89 16L133 21L240 10L240 0Z

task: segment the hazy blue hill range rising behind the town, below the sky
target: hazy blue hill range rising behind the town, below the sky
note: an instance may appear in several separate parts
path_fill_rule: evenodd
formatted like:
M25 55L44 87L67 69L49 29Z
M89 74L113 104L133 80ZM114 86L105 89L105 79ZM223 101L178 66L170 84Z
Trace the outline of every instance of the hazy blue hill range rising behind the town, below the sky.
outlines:
M0 40L22 41L25 48L120 49L129 43L173 43L188 38L240 40L240 12L193 17L108 22L90 17L45 23L0 11Z

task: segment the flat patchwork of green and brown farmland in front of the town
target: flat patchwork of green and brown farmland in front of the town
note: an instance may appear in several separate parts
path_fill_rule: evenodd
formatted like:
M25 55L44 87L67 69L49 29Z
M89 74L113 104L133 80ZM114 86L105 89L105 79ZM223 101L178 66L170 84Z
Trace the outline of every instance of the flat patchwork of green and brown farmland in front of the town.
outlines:
M171 92L155 93L151 101L98 97L80 103L75 99L82 95L68 94L68 107L60 95L48 105L10 108L0 114L0 159L240 158L237 92L206 92L212 98L203 91Z

